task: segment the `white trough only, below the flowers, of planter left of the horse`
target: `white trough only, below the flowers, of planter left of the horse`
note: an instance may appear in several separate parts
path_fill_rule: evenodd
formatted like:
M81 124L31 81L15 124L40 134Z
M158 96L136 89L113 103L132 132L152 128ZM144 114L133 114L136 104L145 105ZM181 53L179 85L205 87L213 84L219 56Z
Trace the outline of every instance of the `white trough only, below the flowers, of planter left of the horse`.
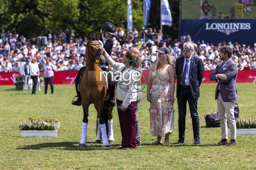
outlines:
M57 137L58 130L20 130L21 137Z

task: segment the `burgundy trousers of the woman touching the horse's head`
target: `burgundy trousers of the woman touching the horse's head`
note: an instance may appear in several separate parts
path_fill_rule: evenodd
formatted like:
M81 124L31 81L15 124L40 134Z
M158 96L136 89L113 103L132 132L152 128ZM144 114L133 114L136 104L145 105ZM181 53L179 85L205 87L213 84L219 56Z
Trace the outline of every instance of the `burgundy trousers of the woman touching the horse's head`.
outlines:
M135 129L135 111L137 101L132 101L131 104L123 112L121 105L123 101L116 99L117 112L122 134L122 146L136 148L136 129Z

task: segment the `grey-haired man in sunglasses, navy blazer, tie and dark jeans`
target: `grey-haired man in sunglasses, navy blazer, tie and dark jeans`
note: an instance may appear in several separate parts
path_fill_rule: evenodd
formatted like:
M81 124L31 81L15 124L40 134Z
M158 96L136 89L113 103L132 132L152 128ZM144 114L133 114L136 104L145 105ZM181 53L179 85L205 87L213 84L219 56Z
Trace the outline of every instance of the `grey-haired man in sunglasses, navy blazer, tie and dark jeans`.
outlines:
M194 132L194 143L201 144L199 140L199 117L197 113L197 100L199 98L199 86L204 75L203 62L198 57L193 57L194 46L191 42L183 44L185 56L176 59L175 70L177 76L177 102L179 109L179 140L183 144L186 129L187 101Z

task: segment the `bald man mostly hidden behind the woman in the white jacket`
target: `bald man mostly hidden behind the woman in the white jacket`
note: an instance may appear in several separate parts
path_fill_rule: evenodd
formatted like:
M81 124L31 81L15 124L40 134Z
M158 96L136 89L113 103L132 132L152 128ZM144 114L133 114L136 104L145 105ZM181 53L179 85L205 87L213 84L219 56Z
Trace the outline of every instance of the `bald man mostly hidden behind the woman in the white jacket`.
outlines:
M132 47L128 51L140 55L140 50L137 49L137 48ZM108 69L111 70L111 67L109 66ZM142 72L142 68L140 68L140 67L137 70ZM140 74L140 80L139 80L139 82L137 84L138 91L141 90L141 85L140 85L140 83L141 83L141 76L142 75ZM139 103L140 103L141 97L142 97L141 96L141 92L137 92L137 104L136 104L136 111L135 111L135 128L136 128L136 146L137 147L141 146L140 121L139 121Z

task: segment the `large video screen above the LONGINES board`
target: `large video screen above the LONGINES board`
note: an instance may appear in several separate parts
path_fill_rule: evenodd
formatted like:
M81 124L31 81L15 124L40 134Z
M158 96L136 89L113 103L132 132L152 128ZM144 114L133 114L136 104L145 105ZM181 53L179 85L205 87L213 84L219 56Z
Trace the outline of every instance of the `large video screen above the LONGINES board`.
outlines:
M235 18L235 3L244 4L243 13L245 19L256 18L256 0L207 0L207 2L210 6L210 10L207 15L203 12L204 18ZM202 4L204 4L204 0L202 0ZM205 3L204 6L208 4ZM205 7L205 12L207 12L207 7ZM181 18L201 18L200 0L181 0Z

